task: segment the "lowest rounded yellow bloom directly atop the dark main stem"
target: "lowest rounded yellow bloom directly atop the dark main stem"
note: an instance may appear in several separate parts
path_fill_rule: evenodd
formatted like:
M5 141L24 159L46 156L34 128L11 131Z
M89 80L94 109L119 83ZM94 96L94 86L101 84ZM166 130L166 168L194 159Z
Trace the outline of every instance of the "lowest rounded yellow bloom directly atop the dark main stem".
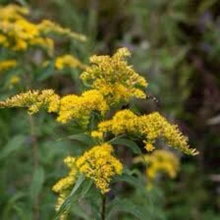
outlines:
M108 192L111 179L122 173L121 162L112 156L113 147L107 143L95 146L76 161L81 173L94 180L101 193Z

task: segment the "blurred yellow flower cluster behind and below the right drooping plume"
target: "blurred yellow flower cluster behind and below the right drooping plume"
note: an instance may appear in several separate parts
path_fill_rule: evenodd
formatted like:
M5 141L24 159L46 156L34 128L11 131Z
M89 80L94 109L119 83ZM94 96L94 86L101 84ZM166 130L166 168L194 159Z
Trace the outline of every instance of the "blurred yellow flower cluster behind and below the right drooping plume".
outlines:
M144 157L135 158L134 162L147 164L146 175L148 187L153 185L158 174L164 173L170 178L175 178L180 166L178 157L167 150L155 150L150 155L147 154Z

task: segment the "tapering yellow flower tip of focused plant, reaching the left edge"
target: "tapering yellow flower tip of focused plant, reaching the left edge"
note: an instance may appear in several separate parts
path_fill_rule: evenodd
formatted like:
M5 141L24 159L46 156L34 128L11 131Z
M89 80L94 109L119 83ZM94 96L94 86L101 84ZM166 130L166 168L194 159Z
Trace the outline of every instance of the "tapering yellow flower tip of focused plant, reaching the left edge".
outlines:
M26 107L29 114L37 113L41 108L56 112L59 108L59 96L52 89L28 91L0 102L1 108Z

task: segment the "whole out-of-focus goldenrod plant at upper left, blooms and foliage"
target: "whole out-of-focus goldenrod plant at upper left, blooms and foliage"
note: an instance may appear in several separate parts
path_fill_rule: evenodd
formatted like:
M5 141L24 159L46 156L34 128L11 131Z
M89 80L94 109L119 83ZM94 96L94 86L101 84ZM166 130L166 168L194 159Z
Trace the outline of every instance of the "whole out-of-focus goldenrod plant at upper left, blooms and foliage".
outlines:
M34 22L27 7L0 6L0 79L2 91L17 87L32 88L56 73L85 69L73 54L63 54L57 44L86 37L50 21Z

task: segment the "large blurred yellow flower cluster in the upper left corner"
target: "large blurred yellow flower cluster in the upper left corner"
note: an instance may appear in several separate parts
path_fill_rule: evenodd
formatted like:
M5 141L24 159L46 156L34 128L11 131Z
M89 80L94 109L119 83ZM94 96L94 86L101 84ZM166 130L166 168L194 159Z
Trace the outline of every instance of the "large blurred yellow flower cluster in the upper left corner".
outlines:
M49 37L51 33L85 40L83 35L71 32L48 20L39 24L29 22L25 18L26 14L28 10L23 7L15 5L0 7L0 45L14 51L24 51L32 46L38 46L52 54L54 40Z

